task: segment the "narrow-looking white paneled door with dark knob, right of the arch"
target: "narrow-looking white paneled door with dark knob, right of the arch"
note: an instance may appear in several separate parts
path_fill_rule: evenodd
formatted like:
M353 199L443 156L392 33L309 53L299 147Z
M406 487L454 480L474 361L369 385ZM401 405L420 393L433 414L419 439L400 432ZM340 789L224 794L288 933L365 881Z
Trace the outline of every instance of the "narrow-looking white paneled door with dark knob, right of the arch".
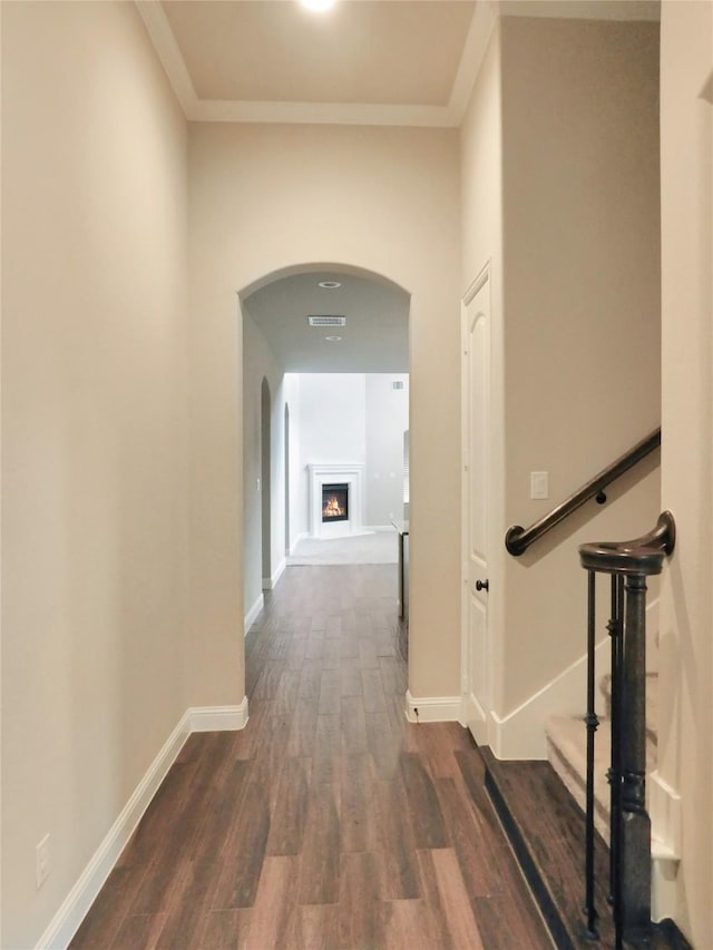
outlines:
M490 282L486 271L463 297L463 717L487 743L488 472L490 466Z

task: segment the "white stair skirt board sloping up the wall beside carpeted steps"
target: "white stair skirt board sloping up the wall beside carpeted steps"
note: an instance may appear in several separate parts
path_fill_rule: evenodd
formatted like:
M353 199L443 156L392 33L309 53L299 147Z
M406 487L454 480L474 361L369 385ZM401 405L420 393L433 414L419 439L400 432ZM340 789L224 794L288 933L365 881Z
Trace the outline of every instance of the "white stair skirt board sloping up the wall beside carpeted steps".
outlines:
M609 669L611 642L605 637L596 648L597 670ZM490 745L496 758L547 758L545 724L551 715L577 716L586 709L587 657L582 656L570 666L526 699L506 716L491 712ZM597 703L602 697L597 691ZM603 709L599 706L598 712Z

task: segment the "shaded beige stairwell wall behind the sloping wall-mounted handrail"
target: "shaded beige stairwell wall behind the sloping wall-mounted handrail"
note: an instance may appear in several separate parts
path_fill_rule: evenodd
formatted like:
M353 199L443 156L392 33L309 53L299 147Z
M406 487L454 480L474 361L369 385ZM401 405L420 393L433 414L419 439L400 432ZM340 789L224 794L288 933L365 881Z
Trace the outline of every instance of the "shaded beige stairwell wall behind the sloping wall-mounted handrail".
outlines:
M505 528L656 428L661 343L657 23L506 18L501 31ZM533 501L543 470L550 498ZM577 546L654 527L657 472L637 478L506 559L500 714L585 652Z

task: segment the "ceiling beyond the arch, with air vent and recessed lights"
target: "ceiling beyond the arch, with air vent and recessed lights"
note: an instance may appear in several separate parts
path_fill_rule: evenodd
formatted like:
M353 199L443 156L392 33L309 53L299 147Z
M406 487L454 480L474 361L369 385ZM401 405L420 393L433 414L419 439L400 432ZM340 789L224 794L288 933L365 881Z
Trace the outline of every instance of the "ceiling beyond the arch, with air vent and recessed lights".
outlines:
M324 290L321 281L341 286ZM355 272L302 273L255 291L243 307L287 372L409 372L409 295L394 284ZM345 316L346 325L313 327L312 314Z

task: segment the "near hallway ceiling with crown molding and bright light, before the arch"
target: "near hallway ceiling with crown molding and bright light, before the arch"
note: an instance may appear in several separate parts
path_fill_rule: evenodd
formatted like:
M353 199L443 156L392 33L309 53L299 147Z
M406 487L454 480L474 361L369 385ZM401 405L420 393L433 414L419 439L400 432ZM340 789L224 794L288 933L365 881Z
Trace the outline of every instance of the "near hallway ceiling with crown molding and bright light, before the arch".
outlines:
M657 0L136 0L193 121L459 126L495 18L657 19Z

